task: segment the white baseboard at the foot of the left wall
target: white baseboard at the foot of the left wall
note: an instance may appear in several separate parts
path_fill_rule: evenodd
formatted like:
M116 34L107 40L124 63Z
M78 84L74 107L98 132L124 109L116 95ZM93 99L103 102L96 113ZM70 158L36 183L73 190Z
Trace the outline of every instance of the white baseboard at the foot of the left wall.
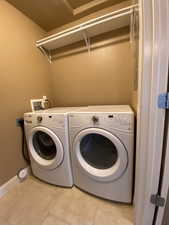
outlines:
M30 167L27 167L26 170L27 170L27 174L29 175ZM8 191L10 191L12 188L14 188L20 182L21 182L20 179L16 175L13 178L11 178L9 181L7 181L5 184L0 186L0 198L2 198L6 193L8 193Z

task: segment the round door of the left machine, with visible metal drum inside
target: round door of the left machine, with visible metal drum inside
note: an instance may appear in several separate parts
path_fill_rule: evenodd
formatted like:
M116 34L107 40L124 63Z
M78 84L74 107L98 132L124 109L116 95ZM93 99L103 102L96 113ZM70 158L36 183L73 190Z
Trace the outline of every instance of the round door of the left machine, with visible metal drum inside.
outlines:
M39 166L54 169L62 163L63 145L50 129L46 127L33 128L28 143L30 154Z

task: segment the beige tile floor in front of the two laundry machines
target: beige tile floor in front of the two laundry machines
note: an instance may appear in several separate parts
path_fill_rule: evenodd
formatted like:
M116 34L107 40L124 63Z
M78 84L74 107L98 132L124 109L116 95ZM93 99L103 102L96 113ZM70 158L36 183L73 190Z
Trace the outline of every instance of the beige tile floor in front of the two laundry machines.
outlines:
M0 225L133 225L133 209L29 177L0 199Z

